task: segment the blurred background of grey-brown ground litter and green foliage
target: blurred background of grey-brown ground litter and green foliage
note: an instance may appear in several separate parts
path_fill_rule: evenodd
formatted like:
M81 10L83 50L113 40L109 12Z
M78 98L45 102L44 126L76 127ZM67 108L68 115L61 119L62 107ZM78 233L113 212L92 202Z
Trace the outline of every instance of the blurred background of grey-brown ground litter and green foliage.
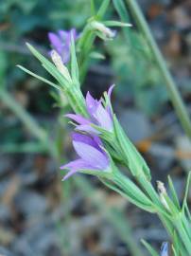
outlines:
M96 1L97 6L101 1ZM139 0L153 36L191 111L191 2ZM59 167L75 157L62 117L66 101L47 84L16 67L50 79L25 42L43 53L48 31L84 27L87 0L0 1L0 254L5 256L148 255L144 238L158 250L168 239L159 220L103 187L96 177L61 182ZM111 4L106 19L118 20ZM133 23L133 19L131 19ZM104 60L92 60L82 85L100 97L114 82L113 108L148 161L153 184L171 175L180 200L191 169L191 143L182 132L165 82L136 26L130 40L121 29L110 42L96 40ZM43 143L48 137L49 151ZM51 154L60 149L59 159ZM191 202L191 194L188 202Z

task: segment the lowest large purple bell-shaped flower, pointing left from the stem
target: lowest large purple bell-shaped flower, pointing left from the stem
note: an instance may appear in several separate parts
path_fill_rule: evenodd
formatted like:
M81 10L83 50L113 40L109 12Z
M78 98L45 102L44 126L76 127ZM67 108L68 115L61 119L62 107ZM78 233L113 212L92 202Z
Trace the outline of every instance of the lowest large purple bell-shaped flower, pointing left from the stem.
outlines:
M102 149L102 142L99 137L73 133L72 140L79 158L61 166L61 169L69 170L63 180L83 170L104 172L108 169L110 160Z

